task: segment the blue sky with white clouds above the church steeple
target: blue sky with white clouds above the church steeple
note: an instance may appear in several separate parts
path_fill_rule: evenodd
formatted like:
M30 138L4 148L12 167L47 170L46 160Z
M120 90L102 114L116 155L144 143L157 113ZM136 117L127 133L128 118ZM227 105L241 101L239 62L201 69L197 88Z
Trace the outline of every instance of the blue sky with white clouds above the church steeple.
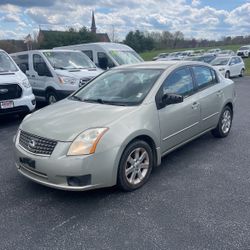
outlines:
M0 40L41 29L90 28L122 40L131 30L181 31L187 38L250 35L250 0L0 0Z

